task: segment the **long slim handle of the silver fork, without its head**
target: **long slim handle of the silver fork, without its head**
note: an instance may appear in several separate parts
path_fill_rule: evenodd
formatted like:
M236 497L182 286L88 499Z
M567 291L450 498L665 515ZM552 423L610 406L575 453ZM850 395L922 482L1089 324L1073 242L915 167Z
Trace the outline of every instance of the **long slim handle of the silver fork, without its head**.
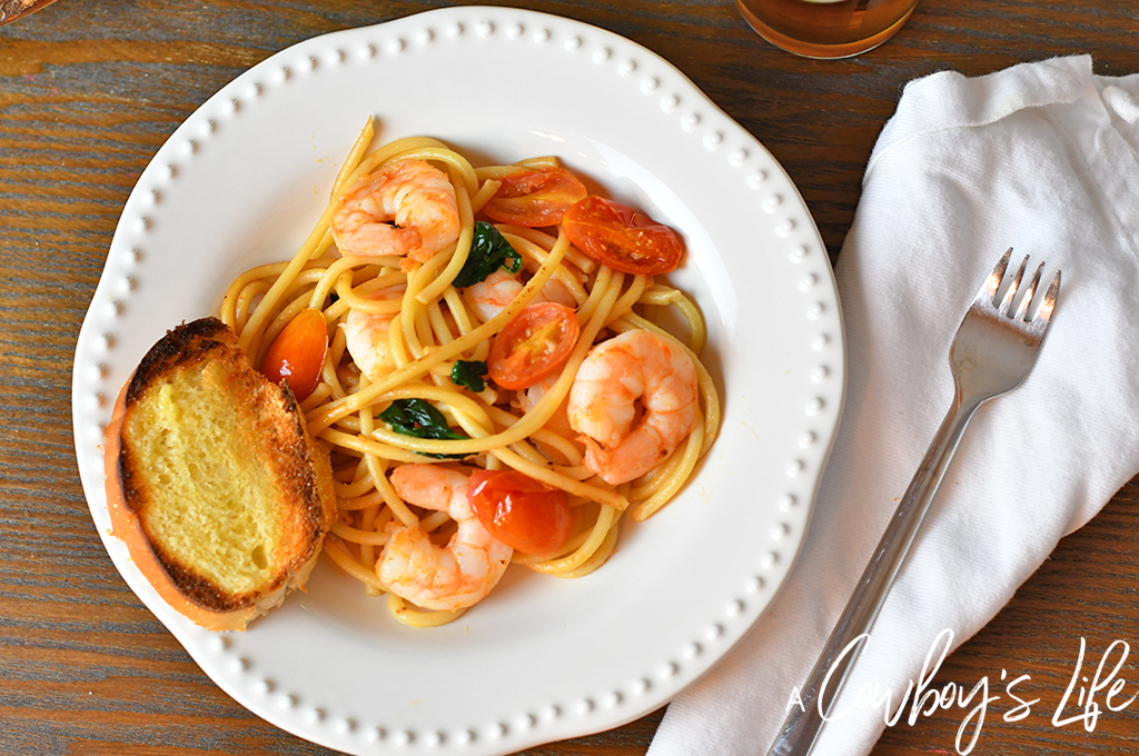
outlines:
M797 705L792 708L768 756L808 756L811 753L819 732L826 724L826 714L838 697L846 674L854 666L866 644L865 636L886 601L894 576L902 566L902 560L906 559L913 536L917 535L929 502L937 492L965 426L980 405L980 401L962 402L958 388L949 413L929 444L886 532L874 550L870 564L862 573L811 675L800 691L803 708ZM826 700L822 699L822 693L826 693Z

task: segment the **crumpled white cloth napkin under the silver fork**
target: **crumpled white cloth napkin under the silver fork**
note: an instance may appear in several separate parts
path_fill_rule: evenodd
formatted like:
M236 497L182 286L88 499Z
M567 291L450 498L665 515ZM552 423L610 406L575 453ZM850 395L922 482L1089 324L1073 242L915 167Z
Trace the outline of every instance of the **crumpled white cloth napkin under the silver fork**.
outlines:
M860 690L896 707L939 633L977 632L1139 471L1137 150L1139 74L1095 76L1087 56L906 87L836 268L846 403L803 551L649 756L767 753L949 408L950 344L1007 248L1047 261L1046 284L1063 270L1051 329L1025 383L973 417L814 754L868 753L885 714Z

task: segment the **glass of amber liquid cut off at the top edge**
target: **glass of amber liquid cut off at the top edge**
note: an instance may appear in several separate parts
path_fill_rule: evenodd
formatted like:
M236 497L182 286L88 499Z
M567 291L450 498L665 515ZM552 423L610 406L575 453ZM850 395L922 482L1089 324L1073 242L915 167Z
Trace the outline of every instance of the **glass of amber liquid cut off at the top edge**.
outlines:
M736 0L765 40L810 58L845 58L894 35L918 0Z

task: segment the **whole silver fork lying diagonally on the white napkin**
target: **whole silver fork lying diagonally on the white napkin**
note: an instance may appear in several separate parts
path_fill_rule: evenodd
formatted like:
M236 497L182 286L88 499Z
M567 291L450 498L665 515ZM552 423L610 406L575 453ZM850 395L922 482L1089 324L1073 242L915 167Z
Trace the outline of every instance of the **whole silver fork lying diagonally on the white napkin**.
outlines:
M1030 315L1030 305L1044 268L1041 263L1014 313L1013 302L1029 258L1021 263L1005 297L998 303L997 290L1005 279L1011 254L1009 249L997 263L957 329L949 356L956 386L953 403L874 550L854 594L803 684L803 709L797 705L792 708L768 756L806 756L811 753L826 722L823 714L829 712L847 672L862 650L969 418L984 402L1019 386L1036 362L1040 343L1056 307L1060 274L1057 271L1035 317ZM822 699L823 693L826 700Z

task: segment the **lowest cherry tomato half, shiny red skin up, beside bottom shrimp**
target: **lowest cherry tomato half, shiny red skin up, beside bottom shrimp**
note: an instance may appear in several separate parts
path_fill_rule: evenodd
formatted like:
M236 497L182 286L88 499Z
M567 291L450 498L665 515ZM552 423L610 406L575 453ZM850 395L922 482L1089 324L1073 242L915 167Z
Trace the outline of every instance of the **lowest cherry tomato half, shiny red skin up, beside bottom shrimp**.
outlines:
M467 498L491 535L524 553L554 556L570 537L566 492L516 470L475 472Z

